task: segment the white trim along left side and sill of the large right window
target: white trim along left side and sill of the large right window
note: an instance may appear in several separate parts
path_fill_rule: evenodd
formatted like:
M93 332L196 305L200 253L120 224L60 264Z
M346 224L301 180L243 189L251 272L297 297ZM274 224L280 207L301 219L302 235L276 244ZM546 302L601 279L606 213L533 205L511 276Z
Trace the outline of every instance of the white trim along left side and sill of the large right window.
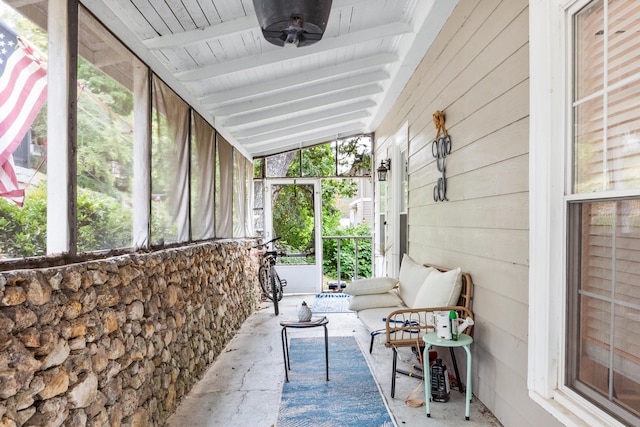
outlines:
M569 426L623 426L563 386L566 168L572 13L587 0L529 2L529 396Z

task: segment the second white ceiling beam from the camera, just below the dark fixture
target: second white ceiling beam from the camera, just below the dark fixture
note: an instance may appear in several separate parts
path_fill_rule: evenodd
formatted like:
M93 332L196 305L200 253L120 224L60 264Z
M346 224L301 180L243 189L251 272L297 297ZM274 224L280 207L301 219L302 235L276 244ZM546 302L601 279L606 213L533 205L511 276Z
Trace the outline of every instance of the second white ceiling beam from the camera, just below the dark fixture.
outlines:
M412 26L410 24L394 22L391 24L380 25L378 27L367 28L365 30L354 31L352 33L336 37L328 37L326 39L322 39L322 43L305 46L304 48L298 49L290 47L271 50L269 53L263 53L261 55L245 56L227 62L205 65L199 68L177 72L175 75L183 82L206 80L213 77L220 77L240 71L248 71L254 68L264 67L265 65L277 64L285 61L299 61L306 56L317 55L333 49L342 49L347 46L367 41L408 34L411 31Z

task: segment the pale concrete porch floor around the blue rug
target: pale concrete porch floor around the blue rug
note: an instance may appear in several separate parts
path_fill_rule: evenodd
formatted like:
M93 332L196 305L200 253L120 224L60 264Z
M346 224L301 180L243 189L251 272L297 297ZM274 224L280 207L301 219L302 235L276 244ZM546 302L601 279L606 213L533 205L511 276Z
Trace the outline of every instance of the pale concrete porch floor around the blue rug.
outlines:
M285 296L276 317L270 302L261 304L238 331L222 354L209 368L202 380L185 396L176 412L167 420L167 427L242 426L269 427L277 420L280 393L284 382L284 365L280 325L282 319L296 319L302 301L313 302L313 295ZM416 378L398 375L395 398L391 390L392 350L376 342L369 354L369 333L353 313L322 313L329 318L329 339L332 336L356 337L363 354L373 369L396 426L500 426L500 422L475 397L471 402L471 416L464 420L464 395L451 391L447 403L433 402L431 418L424 405L419 408L405 404L407 397L424 401L424 387ZM323 336L322 328L294 329L289 338ZM458 364L464 369L464 354ZM329 370L338 360L329 359ZM406 369L415 363L409 349L400 349L398 368Z

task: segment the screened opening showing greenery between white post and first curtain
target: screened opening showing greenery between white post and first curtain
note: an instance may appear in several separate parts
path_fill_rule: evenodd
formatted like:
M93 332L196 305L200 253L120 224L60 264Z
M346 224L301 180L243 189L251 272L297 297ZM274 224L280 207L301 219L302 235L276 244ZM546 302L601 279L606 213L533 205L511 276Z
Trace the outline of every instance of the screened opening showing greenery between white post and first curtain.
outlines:
M86 9L79 13L78 251L128 247L137 59Z

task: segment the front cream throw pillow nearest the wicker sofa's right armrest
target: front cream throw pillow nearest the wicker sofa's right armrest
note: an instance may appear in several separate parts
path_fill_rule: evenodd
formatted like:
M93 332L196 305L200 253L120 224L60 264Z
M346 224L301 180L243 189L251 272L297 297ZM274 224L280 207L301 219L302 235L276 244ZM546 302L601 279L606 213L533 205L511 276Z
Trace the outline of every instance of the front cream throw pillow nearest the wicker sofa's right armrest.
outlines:
M460 268L435 270L424 280L411 308L446 307L456 305L462 290Z

